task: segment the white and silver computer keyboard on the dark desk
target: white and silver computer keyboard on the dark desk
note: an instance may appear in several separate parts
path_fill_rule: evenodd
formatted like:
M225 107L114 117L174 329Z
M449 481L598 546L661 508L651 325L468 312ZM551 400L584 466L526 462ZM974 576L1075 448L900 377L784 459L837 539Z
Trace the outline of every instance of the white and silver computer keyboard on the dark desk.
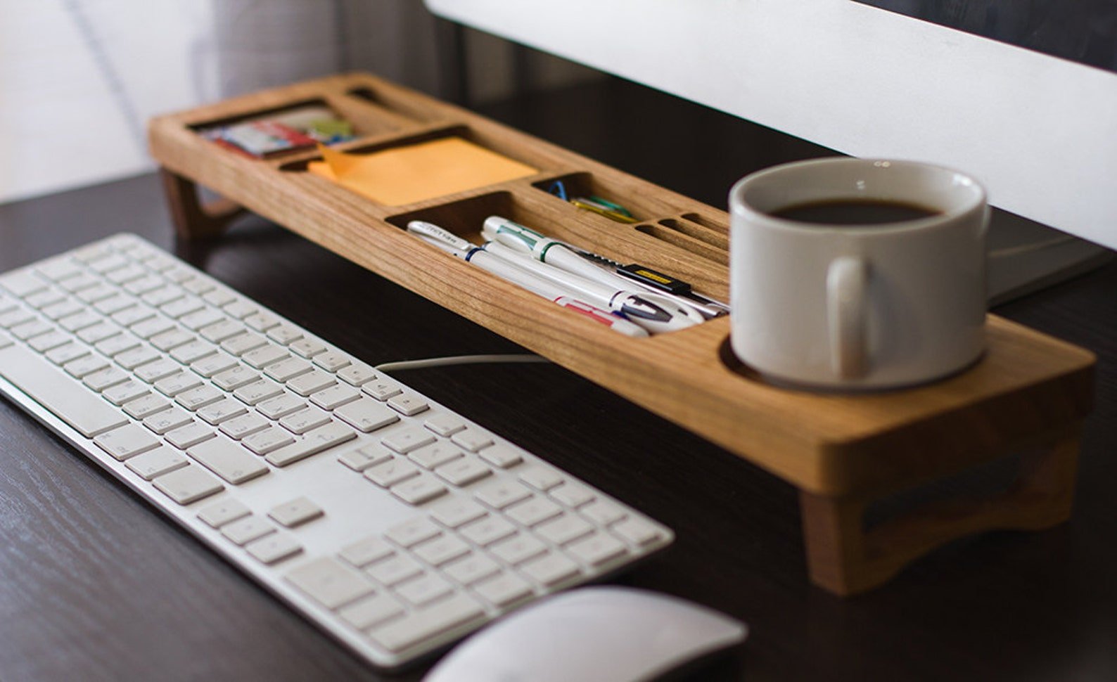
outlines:
M0 377L382 667L672 539L130 234L0 276Z

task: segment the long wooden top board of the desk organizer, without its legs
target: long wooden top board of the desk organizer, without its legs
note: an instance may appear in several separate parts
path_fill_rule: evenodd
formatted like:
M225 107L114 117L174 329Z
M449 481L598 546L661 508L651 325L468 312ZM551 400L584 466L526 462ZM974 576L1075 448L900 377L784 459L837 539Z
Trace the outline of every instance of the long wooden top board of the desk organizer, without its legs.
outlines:
M322 177L280 170L295 167L290 162L229 154L194 133L214 121L306 100L344 102L354 111L355 90L397 111L393 124L400 116L412 121L410 128L399 128L395 143L430 134L433 122L533 164L540 174L384 206ZM484 218L499 213L614 259L670 271L724 298L726 214L373 76L336 76L156 118L150 137L152 153L171 172L203 182L812 493L863 494L948 473L1078 420L1090 406L1088 352L996 316L989 318L985 356L953 378L899 392L818 395L773 387L727 366L719 354L726 318L632 339L550 305L401 228L424 219L476 238ZM390 144L378 137L346 146ZM554 177L631 205L641 223L621 225L551 196L541 186ZM804 422L802 414L812 419Z

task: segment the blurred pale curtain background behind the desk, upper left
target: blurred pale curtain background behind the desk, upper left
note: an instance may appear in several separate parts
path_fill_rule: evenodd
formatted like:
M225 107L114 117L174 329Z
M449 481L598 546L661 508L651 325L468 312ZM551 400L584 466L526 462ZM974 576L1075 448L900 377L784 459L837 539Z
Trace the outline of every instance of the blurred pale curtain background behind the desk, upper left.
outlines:
M154 115L346 70L469 106L602 78L420 0L0 0L0 203L151 171Z

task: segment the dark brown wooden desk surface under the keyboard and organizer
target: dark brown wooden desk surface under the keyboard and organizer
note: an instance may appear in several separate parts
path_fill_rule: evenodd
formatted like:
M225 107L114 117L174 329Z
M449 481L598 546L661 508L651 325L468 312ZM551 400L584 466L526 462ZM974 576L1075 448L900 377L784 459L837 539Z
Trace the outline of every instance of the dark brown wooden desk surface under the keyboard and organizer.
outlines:
M620 102L647 117L620 123L610 114ZM626 85L485 113L715 205L736 176L818 153ZM152 175L0 206L0 270L124 230L369 362L515 348L259 220L175 243ZM1115 680L1117 266L996 311L1099 355L1072 520L958 542L851 599L809 585L790 486L569 372L490 365L401 378L675 528L668 553L619 582L751 624L736 661L700 679ZM382 679L0 401L0 679L202 678Z

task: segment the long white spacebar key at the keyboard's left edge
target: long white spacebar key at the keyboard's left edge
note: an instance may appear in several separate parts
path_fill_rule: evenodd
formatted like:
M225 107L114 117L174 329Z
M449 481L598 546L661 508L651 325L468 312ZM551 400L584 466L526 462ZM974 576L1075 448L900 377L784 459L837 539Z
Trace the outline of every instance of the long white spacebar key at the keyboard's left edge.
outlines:
M0 350L0 375L86 438L128 423L115 407L20 346Z

